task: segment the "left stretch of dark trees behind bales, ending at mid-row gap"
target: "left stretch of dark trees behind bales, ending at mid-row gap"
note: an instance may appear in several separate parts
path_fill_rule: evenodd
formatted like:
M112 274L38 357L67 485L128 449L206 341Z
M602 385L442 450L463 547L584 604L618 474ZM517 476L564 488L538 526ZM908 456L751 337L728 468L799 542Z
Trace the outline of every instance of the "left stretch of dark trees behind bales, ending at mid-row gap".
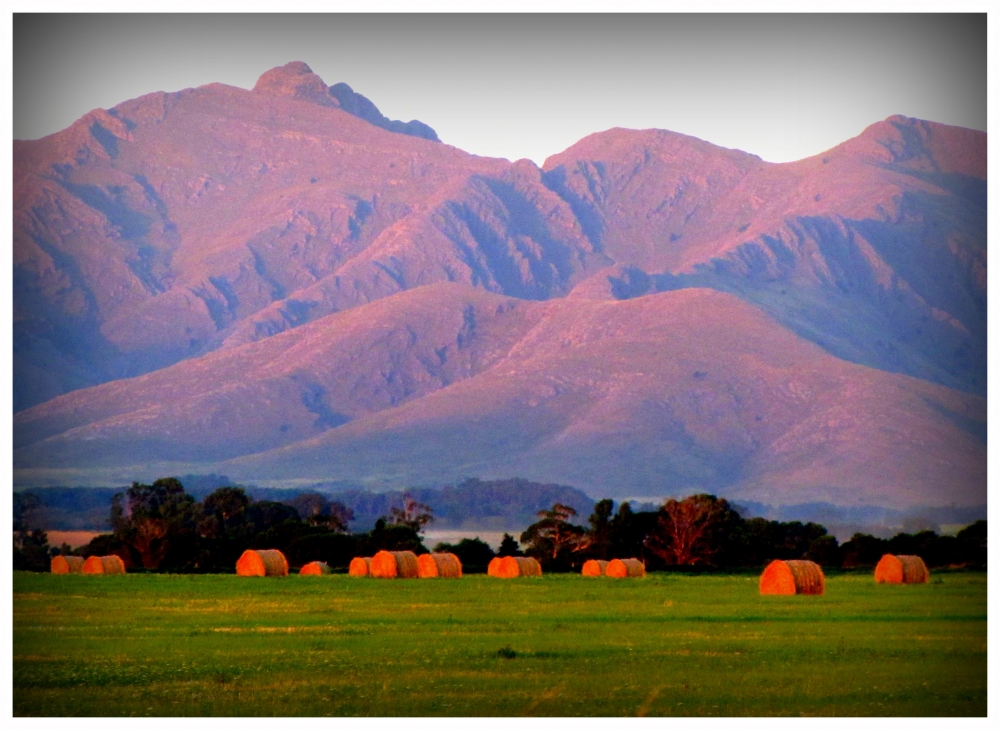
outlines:
M115 554L130 571L232 573L249 548L277 548L292 565L325 560L346 566L355 555L378 550L428 552L420 530L431 519L415 500L393 508L365 533L351 534L353 515L318 493L286 502L254 500L241 487L222 487L198 502L176 478L134 482L111 502L110 534L83 547L49 546L43 530L31 529L34 495L15 494L15 569L48 570L54 554Z

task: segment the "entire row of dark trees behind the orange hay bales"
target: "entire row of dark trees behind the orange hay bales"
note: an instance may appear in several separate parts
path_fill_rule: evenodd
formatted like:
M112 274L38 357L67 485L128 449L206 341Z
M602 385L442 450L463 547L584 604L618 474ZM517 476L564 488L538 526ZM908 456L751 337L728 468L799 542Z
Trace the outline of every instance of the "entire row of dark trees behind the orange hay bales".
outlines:
M33 501L34 500L34 501ZM31 528L37 508L31 494L14 495L14 568L48 570L55 554L119 555L131 571L231 573L248 548L272 548L300 566L323 560L346 568L352 558L379 550L428 552L422 532L430 507L404 495L401 507L365 532L351 532L352 511L319 493L276 502L254 500L241 488L216 489L198 502L176 478L134 482L112 498L110 534L73 550L50 546L44 530ZM885 553L920 555L931 567L986 565L986 521L955 536L924 531L885 540L855 534L839 544L822 525L743 518L725 499L697 494L670 499L656 511L633 511L628 502L594 504L585 524L562 503L540 510L520 535L505 534L494 551L477 538L434 549L455 553L466 572L485 572L493 557L529 555L546 572L579 571L586 560L635 557L648 570L756 568L774 559L807 559L825 567L872 566Z

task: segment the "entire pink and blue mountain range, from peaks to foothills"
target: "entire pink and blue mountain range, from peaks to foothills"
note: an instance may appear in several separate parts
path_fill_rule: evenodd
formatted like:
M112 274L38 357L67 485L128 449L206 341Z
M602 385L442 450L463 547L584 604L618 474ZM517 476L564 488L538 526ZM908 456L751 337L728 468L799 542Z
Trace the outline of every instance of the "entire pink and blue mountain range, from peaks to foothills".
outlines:
M18 478L983 503L985 144L616 129L539 169L301 63L95 110L15 143Z

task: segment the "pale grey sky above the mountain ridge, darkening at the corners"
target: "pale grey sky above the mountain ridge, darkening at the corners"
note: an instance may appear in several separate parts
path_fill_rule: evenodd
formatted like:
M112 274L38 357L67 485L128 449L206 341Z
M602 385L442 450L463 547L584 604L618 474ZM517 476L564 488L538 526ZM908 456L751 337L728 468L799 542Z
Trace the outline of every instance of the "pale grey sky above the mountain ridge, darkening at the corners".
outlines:
M14 137L309 64L468 152L537 163L611 127L780 162L892 114L985 130L985 15L15 16Z

